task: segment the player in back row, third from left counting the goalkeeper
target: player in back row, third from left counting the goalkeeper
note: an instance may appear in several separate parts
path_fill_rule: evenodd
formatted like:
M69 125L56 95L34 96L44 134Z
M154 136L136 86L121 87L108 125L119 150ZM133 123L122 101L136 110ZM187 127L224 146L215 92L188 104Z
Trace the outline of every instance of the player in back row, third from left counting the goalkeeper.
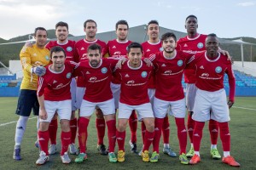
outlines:
M80 57L80 62L87 61L87 48L93 44L97 43L102 47L102 56L107 54L106 42L102 42L99 39L96 39L96 31L97 25L96 21L94 20L85 20L84 22L84 32L86 37L84 39L79 40L76 42L75 48L77 49ZM76 107L80 109L82 100L84 97L86 85L84 84L83 77L78 77L77 79L77 93L76 93ZM103 139L105 136L105 119L100 109L96 109L96 129L98 135L98 142L97 142L97 150L100 151L102 155L108 155L108 151L106 150L106 146L103 144Z

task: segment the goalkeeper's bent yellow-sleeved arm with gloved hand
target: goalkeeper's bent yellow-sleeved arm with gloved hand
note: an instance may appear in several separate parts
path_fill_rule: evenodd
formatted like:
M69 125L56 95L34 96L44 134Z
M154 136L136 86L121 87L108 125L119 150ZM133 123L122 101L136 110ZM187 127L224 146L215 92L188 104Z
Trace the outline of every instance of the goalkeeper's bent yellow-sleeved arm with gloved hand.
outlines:
M20 51L20 61L24 71L43 76L46 69L44 66L34 66L31 64L31 48L23 47Z

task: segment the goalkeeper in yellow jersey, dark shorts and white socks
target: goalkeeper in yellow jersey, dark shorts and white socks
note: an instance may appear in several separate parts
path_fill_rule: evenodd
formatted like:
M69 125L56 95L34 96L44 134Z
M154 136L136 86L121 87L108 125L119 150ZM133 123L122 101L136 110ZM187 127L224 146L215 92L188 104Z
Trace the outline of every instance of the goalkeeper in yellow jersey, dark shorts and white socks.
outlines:
M20 144L26 130L26 122L31 111L38 116L39 104L37 98L38 76L45 73L44 65L49 64L49 50L44 48L47 41L47 31L38 27L34 31L36 43L32 47L24 46L20 51L20 61L23 70L23 79L20 85L20 94L16 114L19 120L15 131L14 159L19 161Z

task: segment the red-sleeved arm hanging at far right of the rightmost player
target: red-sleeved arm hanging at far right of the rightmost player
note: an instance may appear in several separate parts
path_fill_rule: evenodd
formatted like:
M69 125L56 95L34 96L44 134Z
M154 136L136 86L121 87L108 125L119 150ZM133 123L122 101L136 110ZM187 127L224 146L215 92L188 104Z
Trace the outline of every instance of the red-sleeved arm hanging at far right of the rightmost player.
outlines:
M229 105L229 108L231 108L232 105L235 103L235 93L236 93L236 79L235 79L234 71L232 70L231 62L227 70L225 71L225 73L229 77L230 96L229 96L228 105Z

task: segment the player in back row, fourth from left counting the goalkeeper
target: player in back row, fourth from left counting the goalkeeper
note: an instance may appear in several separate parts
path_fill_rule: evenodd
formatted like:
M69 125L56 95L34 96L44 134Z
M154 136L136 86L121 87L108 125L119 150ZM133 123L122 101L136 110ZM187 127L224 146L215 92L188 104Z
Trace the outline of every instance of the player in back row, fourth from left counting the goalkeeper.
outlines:
M129 26L126 20L119 20L115 25L115 32L117 39L108 41L108 55L114 58L125 58L127 54L127 47L131 44L131 41L127 39ZM113 77L111 82L111 90L113 93L115 109L119 108L120 98L120 82L117 78ZM137 114L132 111L129 118L129 126L131 129L131 140L129 144L131 146L131 152L137 153Z

